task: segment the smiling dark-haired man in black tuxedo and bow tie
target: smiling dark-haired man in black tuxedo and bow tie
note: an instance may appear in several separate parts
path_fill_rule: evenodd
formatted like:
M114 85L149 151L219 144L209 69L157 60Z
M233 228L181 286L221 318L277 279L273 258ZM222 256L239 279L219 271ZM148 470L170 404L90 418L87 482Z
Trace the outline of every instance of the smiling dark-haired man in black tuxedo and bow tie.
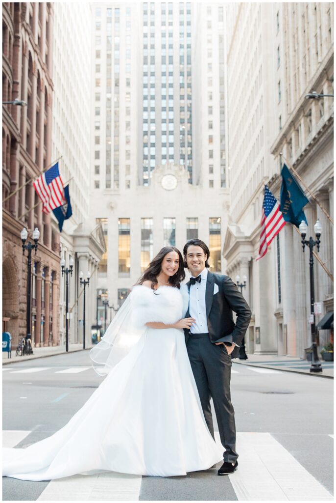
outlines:
M218 475L238 467L235 413L230 397L231 357L236 358L251 319L251 309L228 276L208 271L210 250L201 239L190 239L183 248L185 267L192 278L187 283L189 307L186 317L195 318L185 328L189 360L209 431L214 437L210 399L213 399L219 434L225 447ZM236 324L232 311L237 314Z

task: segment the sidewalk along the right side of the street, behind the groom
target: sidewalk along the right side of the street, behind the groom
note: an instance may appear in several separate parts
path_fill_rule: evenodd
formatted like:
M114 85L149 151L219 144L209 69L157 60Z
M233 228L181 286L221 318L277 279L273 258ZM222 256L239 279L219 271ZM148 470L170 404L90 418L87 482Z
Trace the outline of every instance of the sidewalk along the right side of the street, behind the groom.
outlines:
M295 372L298 374L309 374L318 377L327 377L333 379L333 362L324 362L319 360L322 366L322 372L309 372L310 362L293 356L278 356L278 355L247 355L247 360L239 360L234 358L233 363L239 365L250 365L251 367L263 367L266 369L276 369L285 372Z

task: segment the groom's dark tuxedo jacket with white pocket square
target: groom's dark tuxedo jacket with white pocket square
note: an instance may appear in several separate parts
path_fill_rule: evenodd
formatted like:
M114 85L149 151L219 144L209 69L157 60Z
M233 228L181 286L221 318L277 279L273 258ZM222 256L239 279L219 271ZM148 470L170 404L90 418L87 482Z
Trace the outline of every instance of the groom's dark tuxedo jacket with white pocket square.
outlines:
M218 293L214 295L215 283ZM187 286L190 289L190 282ZM208 270L205 304L211 342L236 343L240 346L250 323L251 309L229 276L214 274ZM233 311L237 314L236 323L233 321ZM186 313L186 318L188 317L189 307ZM190 330L185 328L186 344L189 337ZM231 357L236 358L238 354L239 348L236 347Z

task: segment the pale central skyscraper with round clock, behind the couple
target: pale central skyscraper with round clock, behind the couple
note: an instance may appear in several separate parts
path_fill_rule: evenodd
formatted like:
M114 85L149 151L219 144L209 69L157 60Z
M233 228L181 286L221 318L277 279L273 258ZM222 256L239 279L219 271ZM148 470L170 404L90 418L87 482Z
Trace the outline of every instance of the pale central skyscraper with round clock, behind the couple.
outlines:
M224 12L189 2L92 8L90 217L107 248L97 289L117 308L163 245L199 237L212 270L224 271Z

